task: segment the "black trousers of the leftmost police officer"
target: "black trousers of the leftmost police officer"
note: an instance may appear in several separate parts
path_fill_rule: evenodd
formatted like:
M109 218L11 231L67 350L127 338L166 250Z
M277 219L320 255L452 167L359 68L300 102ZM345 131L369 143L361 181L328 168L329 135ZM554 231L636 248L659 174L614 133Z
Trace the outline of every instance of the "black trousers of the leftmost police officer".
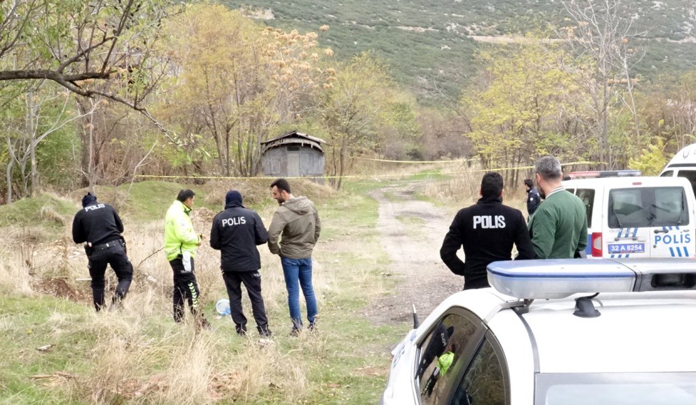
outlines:
M94 308L99 311L104 306L104 273L106 265L111 264L111 269L116 273L118 285L113 294L112 303L125 298L133 279L133 265L123 246L113 246L103 251L96 251L88 255L89 275L92 278L92 301Z

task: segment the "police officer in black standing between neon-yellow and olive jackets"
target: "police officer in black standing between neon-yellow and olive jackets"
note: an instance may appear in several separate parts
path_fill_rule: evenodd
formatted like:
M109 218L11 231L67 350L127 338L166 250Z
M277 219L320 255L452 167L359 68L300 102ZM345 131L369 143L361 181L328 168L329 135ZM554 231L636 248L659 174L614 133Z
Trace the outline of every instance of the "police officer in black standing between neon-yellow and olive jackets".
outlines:
M246 334L246 317L242 310L242 283L251 299L256 328L262 336L270 336L268 318L261 296L261 257L256 246L268 241L268 232L261 217L242 205L242 194L228 191L225 210L213 219L210 247L221 251L221 270L230 298L232 321L239 335Z

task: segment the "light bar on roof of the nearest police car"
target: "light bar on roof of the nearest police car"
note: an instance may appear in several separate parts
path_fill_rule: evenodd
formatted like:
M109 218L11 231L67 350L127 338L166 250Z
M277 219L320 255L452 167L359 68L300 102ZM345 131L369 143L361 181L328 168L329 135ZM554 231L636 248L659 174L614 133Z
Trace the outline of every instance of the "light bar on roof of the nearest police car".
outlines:
M518 299L696 289L696 260L506 260L488 265L488 282L499 292Z

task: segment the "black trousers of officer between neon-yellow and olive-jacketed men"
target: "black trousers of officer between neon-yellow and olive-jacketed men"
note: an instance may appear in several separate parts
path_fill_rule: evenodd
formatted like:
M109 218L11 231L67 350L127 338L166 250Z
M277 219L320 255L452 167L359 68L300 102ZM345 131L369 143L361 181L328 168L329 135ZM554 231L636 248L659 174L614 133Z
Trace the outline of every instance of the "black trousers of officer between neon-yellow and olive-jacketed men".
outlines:
M235 322L237 333L246 332L246 317L242 309L242 283L251 300L251 311L259 333L268 332L266 307L261 296L261 274L258 271L223 271L227 295L230 298L230 315Z

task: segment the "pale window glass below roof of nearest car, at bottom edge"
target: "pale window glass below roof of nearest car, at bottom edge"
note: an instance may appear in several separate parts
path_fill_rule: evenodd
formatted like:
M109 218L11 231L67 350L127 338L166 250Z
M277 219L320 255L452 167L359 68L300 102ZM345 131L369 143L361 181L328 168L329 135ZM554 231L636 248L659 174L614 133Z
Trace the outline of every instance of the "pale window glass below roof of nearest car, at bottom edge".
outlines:
M537 374L535 405L693 405L696 372Z

